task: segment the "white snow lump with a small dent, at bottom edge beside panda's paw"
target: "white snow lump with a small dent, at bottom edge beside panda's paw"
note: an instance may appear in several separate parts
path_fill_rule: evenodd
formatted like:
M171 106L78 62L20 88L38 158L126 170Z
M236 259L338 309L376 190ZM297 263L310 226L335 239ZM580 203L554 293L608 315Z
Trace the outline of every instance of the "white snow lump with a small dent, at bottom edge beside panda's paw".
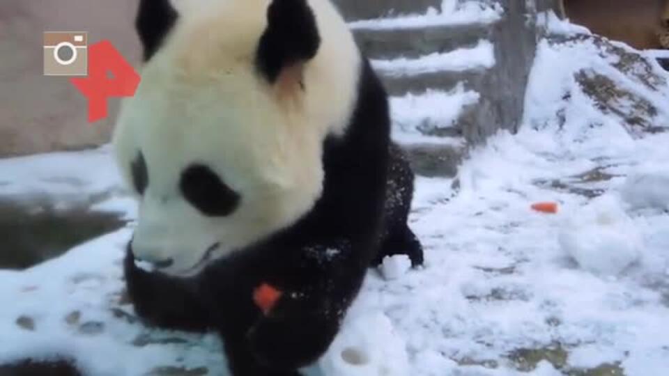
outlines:
M347 318L318 361L323 376L409 375L406 344L383 313Z

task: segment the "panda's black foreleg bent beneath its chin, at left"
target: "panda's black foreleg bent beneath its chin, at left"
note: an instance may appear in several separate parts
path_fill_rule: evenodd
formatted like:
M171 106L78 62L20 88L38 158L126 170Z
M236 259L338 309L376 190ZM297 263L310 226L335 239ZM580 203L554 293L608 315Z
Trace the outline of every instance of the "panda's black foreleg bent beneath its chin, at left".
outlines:
M134 264L130 246L123 271L134 310L148 324L187 331L206 331L210 326L197 281L140 269Z

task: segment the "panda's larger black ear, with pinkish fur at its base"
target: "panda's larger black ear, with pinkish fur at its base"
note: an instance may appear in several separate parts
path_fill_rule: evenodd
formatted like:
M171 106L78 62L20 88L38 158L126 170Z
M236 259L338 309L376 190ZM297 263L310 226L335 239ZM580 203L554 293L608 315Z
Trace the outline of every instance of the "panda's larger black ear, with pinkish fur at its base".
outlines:
M307 0L274 0L267 10L256 65L274 84L284 70L314 58L320 45L316 17Z

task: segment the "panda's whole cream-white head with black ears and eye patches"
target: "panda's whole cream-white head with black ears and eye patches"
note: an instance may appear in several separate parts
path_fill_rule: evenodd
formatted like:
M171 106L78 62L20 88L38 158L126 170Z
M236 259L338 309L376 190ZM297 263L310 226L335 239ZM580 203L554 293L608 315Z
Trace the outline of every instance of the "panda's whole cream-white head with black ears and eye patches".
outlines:
M114 134L139 201L130 246L196 274L314 206L360 54L329 0L141 0L137 30L141 84Z

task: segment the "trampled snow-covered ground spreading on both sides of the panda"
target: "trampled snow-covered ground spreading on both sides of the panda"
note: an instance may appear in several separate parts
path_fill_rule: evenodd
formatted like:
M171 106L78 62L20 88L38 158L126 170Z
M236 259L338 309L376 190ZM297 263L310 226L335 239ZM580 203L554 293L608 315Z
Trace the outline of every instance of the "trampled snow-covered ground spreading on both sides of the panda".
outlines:
M411 226L424 269L399 258L370 270L310 374L667 375L669 132L631 134L599 111L574 80L589 67L608 69L587 43L542 43L520 132L472 150L455 179L417 179ZM666 107L666 92L611 76ZM439 102L429 117L450 118L476 99L440 95L395 103L393 115ZM669 124L663 110L649 120ZM98 195L96 210L134 217L109 148L5 159L0 172L0 198ZM544 201L557 213L531 209ZM0 270L0 364L60 355L96 376L225 375L215 336L137 322L121 281L131 231L23 272Z

